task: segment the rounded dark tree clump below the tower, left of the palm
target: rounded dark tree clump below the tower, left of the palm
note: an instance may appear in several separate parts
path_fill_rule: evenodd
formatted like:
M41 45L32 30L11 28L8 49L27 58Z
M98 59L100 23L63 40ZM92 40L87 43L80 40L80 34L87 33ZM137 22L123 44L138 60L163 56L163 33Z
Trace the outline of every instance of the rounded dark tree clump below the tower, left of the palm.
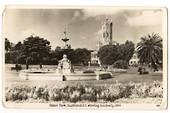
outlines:
M99 49L98 57L103 65L112 65L118 60L128 63L133 56L134 49L134 43L131 41L120 45L105 45Z

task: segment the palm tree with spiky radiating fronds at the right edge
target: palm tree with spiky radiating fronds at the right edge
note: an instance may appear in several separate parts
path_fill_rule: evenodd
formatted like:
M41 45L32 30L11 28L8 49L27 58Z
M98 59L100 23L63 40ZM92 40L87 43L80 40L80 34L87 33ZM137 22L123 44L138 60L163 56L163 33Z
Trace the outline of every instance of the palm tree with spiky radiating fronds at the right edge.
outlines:
M158 70L157 65L162 62L162 38L155 33L141 37L137 53L140 63L150 64L151 68Z

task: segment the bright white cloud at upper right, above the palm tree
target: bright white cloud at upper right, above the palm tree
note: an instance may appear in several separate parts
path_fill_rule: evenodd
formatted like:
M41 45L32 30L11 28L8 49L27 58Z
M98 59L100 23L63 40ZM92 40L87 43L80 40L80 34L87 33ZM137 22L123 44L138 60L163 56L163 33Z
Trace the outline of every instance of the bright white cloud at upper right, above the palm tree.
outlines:
M131 26L161 25L162 11L143 11L141 15L129 17L127 23Z

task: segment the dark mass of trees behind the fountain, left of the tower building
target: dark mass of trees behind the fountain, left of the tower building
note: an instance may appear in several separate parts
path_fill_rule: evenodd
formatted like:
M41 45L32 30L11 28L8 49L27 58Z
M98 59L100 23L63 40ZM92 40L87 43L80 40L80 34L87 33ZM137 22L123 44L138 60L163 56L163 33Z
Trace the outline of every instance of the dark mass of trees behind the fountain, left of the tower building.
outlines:
M12 44L5 39L5 63L57 65L66 54L72 64L87 65L91 59L90 50L86 48L51 49L50 42L38 36L30 36L23 43Z

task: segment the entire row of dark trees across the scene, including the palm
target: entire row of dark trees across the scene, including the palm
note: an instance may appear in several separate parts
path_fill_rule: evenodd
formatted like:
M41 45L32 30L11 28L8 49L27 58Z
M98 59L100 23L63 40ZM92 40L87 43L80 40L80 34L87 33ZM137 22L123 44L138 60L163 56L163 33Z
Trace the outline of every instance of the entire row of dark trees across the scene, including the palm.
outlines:
M162 65L163 59L162 38L159 34L152 33L140 39L136 51L135 44L128 40L123 44L114 43L100 47L97 53L100 64L125 68L136 52L140 64L157 69L158 65ZM86 48L62 49L57 46L52 50L50 42L39 36L30 36L23 43L17 44L12 44L5 38L5 50L5 63L40 64L40 67L42 64L56 65L63 54L67 55L72 64L88 65L91 60L91 51Z

